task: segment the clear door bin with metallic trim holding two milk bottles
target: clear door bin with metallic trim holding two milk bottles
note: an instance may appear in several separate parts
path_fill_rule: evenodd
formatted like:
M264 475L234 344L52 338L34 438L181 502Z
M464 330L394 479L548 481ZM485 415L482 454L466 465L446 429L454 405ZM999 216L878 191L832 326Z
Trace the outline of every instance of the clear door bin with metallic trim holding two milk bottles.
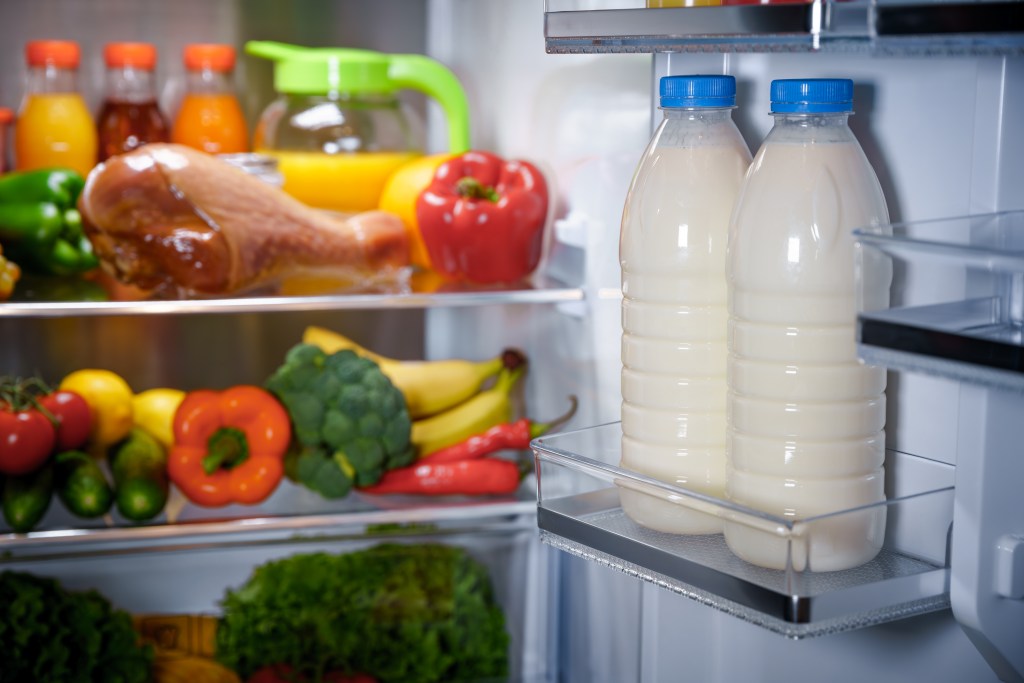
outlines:
M794 523L624 469L621 438L613 423L535 439L545 542L791 638L948 607L952 467L889 452L886 502ZM624 492L769 535L790 558L786 568L739 559L722 533L682 536L641 526L624 512ZM885 533L873 559L850 569L811 570L829 529L880 518Z

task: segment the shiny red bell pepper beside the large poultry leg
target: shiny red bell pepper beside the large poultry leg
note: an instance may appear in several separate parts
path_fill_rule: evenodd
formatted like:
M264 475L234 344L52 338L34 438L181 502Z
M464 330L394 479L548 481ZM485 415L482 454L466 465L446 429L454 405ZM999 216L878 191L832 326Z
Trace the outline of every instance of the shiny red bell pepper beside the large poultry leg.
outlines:
M438 272L512 283L541 260L548 184L529 162L467 152L437 167L416 201L420 234Z

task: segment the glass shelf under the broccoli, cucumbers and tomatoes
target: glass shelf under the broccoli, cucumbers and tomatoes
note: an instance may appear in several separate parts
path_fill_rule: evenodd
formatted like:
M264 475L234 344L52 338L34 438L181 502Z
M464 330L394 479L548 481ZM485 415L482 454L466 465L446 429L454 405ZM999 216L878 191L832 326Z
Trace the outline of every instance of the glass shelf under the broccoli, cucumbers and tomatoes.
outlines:
M476 532L495 524L536 525L531 484L505 497L416 497L350 494L338 501L282 482L264 503L221 509L184 502L172 492L167 509L135 524L116 512L104 518L73 517L57 500L38 530L12 533L0 522L0 569L50 559L337 542L378 536ZM521 518L527 521L520 522ZM382 530L383 529L383 530Z

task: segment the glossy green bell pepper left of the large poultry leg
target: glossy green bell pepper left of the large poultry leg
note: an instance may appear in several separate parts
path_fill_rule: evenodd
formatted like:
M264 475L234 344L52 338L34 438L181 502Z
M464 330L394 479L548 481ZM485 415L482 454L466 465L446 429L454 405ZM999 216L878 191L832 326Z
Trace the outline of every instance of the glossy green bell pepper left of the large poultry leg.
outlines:
M0 245L11 260L55 275L99 265L75 208L84 186L80 174L59 168L0 177Z

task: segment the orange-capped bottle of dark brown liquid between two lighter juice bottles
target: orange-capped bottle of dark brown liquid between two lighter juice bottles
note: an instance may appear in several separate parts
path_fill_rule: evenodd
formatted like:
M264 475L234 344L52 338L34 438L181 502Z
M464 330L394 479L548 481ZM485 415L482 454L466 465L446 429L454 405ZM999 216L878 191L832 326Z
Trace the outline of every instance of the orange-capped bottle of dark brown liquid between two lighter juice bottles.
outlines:
M157 49L147 43L111 43L106 96L96 117L99 159L131 152L147 142L167 142L170 125L157 103Z

